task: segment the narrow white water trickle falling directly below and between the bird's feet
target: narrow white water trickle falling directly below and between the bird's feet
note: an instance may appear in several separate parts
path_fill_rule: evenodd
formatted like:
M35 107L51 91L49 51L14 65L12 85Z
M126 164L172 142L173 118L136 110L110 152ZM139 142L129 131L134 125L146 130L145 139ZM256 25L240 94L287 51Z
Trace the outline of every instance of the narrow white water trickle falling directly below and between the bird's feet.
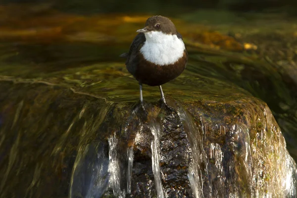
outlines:
M160 136L161 136L161 129L156 122L151 122L149 124L149 128L153 135L153 140L151 142L151 163L152 163L152 172L154 176L155 187L157 191L158 198L164 198L163 187L161 182L161 175L160 175Z

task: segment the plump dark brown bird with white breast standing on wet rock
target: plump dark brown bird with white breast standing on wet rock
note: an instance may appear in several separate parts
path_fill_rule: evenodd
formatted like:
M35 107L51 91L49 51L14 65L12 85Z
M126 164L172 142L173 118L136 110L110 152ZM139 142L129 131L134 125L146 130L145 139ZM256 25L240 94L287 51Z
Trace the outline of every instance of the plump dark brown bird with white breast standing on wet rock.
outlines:
M128 71L138 80L140 101L143 106L142 85L159 86L178 77L186 68L188 52L181 34L172 21L164 16L151 16L146 27L137 30L129 52L120 56L127 58ZM144 107L144 106L143 106Z

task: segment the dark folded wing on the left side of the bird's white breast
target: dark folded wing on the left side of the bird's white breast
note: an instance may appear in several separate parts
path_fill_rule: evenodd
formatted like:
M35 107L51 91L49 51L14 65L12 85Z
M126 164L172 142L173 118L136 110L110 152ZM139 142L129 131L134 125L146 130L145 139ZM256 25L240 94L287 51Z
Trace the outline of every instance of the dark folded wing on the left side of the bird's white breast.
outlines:
M145 41L146 37L144 33L139 33L136 35L130 46L128 54L126 54L126 67L132 75L135 75L137 66L139 64L139 57L137 56L138 50L143 46Z

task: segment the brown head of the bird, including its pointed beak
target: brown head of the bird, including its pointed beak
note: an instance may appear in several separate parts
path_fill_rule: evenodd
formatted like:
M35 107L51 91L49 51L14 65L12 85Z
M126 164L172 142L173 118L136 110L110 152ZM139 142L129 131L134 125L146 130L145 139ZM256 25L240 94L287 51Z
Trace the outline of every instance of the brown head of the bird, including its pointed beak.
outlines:
M177 30L172 21L165 16L151 16L146 22L146 27L137 30L138 33L148 33L150 31L163 32L164 34L177 34Z

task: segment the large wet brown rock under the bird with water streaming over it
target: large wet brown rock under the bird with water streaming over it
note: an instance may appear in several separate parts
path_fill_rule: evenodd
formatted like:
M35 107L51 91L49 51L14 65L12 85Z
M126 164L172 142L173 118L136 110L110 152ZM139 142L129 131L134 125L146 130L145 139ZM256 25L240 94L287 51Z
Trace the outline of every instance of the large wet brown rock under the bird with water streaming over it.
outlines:
M296 164L259 99L168 98L146 114L41 83L1 89L1 196L296 196Z

